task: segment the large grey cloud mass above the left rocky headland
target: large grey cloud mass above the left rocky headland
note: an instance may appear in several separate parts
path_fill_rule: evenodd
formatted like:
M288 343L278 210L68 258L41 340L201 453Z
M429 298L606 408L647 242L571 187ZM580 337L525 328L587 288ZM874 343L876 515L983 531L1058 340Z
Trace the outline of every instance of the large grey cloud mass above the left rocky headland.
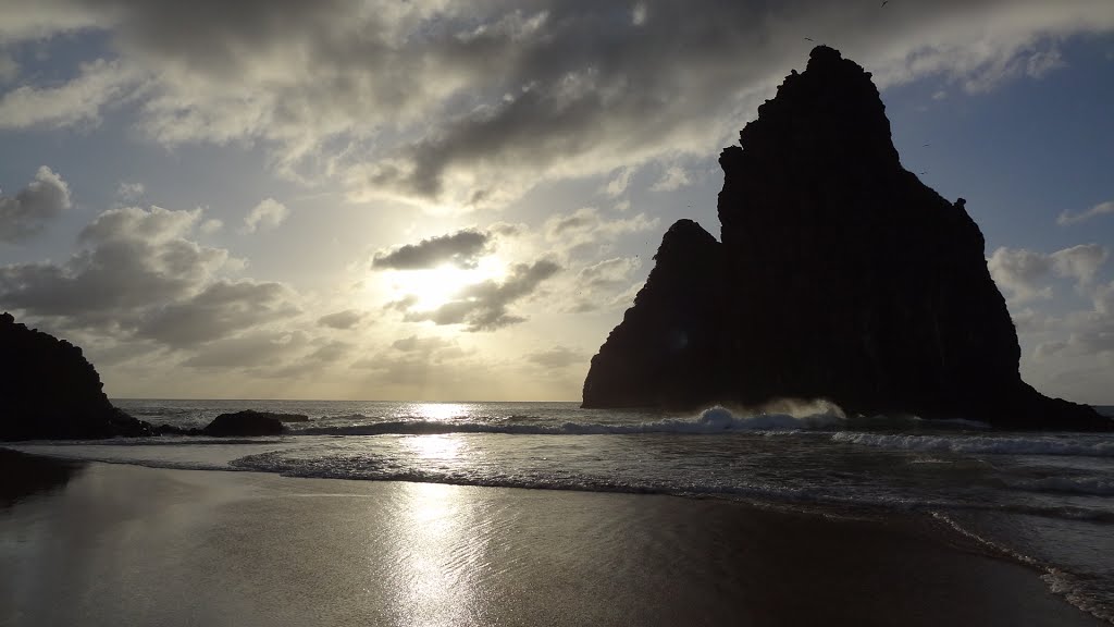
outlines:
M300 298L290 287L221 276L240 263L189 239L201 216L158 206L105 211L66 262L0 267L0 301L56 327L182 350L296 317Z

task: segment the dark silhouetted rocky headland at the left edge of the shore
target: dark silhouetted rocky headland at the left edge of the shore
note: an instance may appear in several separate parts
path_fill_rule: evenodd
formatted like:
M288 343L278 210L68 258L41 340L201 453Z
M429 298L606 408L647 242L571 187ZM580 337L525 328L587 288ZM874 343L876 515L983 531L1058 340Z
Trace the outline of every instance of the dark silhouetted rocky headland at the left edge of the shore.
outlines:
M101 387L80 348L0 316L0 441L153 433L114 407Z

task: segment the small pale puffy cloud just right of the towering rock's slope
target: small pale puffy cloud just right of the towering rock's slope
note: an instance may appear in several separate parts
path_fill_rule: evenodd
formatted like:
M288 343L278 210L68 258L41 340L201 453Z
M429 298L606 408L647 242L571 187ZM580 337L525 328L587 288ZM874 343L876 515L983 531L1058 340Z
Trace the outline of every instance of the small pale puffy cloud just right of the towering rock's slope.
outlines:
M1093 243L1053 253L1001 247L987 260L987 267L998 287L1010 292L1010 302L1020 303L1052 298L1052 286L1044 284L1049 274L1074 279L1077 288L1085 288L1106 258L1106 249Z

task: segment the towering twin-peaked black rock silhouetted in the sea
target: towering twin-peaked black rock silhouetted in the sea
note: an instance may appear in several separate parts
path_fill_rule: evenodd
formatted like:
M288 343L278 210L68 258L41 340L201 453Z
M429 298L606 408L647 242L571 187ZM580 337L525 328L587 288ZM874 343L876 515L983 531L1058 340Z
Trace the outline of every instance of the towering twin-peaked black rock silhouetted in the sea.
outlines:
M852 413L1111 428L1042 396L964 209L906 171L870 75L819 46L723 151L722 244L687 220L584 384L584 406L828 398ZM677 338L684 338L678 340Z

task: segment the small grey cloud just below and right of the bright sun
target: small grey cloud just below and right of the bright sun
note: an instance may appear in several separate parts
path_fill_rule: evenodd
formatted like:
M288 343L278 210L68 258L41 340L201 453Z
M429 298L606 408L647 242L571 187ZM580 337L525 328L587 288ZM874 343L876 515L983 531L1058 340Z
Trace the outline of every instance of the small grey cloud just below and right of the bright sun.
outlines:
M465 287L453 300L430 311L408 309L403 319L410 322L432 321L436 325L466 325L469 331L491 331L526 318L511 314L509 307L532 295L543 281L560 271L549 260L518 263L502 281L487 280Z

